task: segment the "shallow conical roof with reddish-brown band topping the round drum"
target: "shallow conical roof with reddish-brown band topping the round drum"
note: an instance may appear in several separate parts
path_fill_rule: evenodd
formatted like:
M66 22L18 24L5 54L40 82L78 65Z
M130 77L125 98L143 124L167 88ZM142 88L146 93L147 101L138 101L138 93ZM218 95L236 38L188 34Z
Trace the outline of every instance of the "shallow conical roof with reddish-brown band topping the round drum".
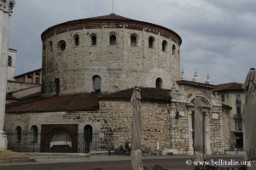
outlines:
M43 42L54 35L60 34L65 31L73 31L73 30L82 30L82 29L101 29L105 26L111 26L113 28L125 28L135 29L139 31L149 31L154 34L172 38L177 43L181 44L181 37L175 32L164 26L155 25L149 22L140 21L140 20L132 20L118 14L107 14L102 16L96 16L91 18L85 18L80 20L70 20L55 26L49 27L45 30L41 38Z

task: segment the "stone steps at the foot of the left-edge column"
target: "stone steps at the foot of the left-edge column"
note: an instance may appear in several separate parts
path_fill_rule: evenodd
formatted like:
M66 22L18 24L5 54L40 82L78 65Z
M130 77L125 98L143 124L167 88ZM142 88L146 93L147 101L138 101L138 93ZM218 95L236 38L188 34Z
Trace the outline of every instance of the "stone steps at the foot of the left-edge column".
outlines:
M23 154L11 151L11 150L0 150L0 163L10 162L28 162L34 161Z

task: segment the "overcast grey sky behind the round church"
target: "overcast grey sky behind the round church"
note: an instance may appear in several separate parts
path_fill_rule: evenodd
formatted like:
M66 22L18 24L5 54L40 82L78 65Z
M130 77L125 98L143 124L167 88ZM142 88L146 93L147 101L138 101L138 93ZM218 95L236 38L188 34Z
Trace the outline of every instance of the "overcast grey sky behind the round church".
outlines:
M16 0L10 48L18 50L16 75L41 68L41 33L67 20L110 14L112 0ZM244 82L256 67L255 0L114 0L114 14L176 31L188 80ZM22 66L23 63L23 66Z

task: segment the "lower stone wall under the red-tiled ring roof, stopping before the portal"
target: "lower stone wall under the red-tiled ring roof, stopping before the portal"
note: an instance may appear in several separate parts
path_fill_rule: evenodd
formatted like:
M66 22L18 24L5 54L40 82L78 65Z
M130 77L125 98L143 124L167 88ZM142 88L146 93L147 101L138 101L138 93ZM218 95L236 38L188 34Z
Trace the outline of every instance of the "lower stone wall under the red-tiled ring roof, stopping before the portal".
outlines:
M5 129L30 131L33 125L41 131L42 124L78 124L79 133L89 124L93 130L108 134L101 144L102 149L114 148L131 141L131 103L125 101L102 101L101 110L95 112L43 112L25 114L7 114ZM157 142L160 150L170 148L170 113L168 104L143 102L143 150L156 151ZM26 138L26 137L23 137ZM22 141L22 139L21 139ZM40 139L38 139L40 141Z

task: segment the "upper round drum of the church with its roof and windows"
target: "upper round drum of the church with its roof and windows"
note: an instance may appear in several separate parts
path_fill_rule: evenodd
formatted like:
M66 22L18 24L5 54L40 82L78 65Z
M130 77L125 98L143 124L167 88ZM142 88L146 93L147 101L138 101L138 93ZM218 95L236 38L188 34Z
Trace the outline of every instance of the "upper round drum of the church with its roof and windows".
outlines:
M116 14L68 21L42 33L43 94L172 88L180 77L181 37ZM94 84L94 85L93 85Z

